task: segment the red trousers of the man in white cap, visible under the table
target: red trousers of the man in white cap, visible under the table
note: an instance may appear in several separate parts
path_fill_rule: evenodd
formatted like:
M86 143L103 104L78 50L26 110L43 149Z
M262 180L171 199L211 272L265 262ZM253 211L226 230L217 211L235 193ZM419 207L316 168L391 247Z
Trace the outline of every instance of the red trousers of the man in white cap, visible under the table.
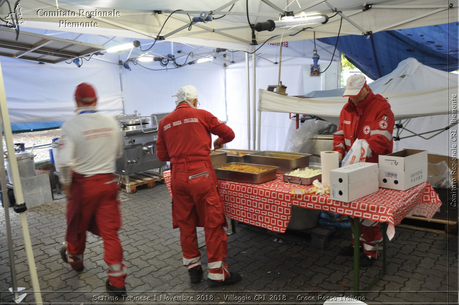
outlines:
M349 217L351 220L351 229L354 227L353 217ZM377 258L378 255L378 243L382 241L382 235L380 230L380 224L373 220L364 220L360 224L360 237L359 247L364 247L364 254L371 257ZM352 244L354 244L353 234Z

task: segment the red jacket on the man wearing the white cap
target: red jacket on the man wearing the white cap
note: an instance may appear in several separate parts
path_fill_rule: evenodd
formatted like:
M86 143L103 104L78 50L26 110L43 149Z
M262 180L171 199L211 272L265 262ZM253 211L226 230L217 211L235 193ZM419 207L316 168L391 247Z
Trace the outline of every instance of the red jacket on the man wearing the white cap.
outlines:
M392 153L394 114L384 97L370 90L357 107L349 99L341 110L338 130L333 136L333 150L343 157L357 139L368 142L367 162L378 163L379 155Z

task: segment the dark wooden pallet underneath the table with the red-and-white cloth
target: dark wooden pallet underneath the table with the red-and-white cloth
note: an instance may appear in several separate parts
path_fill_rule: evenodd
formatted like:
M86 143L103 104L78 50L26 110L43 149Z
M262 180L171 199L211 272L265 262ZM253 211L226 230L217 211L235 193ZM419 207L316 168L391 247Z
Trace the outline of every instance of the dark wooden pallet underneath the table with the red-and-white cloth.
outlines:
M309 230L287 230L285 233L272 232L265 228L257 226L247 225L242 222L238 222L237 226L241 226L246 229L250 229L256 232L268 234L283 240L288 240L293 243L301 243L307 246L312 246L319 249L326 249L330 241L331 236L336 232L334 226L316 226Z

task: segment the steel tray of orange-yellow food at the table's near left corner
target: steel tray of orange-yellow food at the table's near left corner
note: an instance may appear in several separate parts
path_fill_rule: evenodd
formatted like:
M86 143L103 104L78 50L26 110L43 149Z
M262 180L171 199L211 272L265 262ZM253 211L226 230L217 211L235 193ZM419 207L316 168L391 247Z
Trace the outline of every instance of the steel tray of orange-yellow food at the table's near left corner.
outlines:
M231 170L231 169L220 169L219 167L224 165L250 165L253 167L257 167L259 169L268 169L261 173L249 173L243 172L239 170ZM270 180L274 180L276 178L276 171L277 166L269 166L269 165L260 165L260 164L246 164L246 163L239 163L239 162L232 162L227 164L221 164L218 166L214 166L215 174L217 178L220 180L229 180L229 181L236 181L236 182L243 182L243 183L253 183L253 184L262 184Z

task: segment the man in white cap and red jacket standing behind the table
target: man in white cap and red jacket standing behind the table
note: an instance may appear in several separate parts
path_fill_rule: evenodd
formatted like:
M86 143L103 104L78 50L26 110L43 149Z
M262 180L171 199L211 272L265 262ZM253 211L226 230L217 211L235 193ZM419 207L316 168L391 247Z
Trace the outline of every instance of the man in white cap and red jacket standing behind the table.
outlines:
M365 77L358 74L347 79L343 96L349 96L349 99L341 110L338 130L333 136L333 150L339 153L341 161L354 141L363 139L369 146L366 162L378 163L379 155L392 153L394 114L391 105L381 95L374 94ZM381 240L379 222L364 220L360 226L361 266L373 265ZM354 255L353 243L341 249L340 253Z

